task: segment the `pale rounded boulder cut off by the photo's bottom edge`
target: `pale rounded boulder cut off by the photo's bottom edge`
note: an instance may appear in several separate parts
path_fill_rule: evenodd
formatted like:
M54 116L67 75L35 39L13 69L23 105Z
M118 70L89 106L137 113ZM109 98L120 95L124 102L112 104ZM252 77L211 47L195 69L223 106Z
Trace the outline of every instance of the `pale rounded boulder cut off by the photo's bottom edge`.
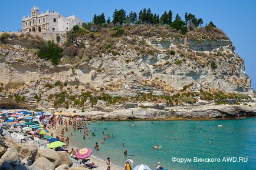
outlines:
M29 167L29 169L34 169L34 170L54 170L55 166L48 159L41 157L41 158L36 159L34 164L32 165L32 167Z

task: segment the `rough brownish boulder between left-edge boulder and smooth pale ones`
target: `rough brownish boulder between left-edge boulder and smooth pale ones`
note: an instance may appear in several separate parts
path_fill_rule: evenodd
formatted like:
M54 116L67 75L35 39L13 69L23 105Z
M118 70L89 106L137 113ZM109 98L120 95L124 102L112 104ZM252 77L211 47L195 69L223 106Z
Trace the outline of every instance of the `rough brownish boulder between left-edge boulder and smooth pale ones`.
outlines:
M18 151L22 159L28 157L31 161L34 161L35 156L37 155L37 146L32 144L21 144L19 145Z

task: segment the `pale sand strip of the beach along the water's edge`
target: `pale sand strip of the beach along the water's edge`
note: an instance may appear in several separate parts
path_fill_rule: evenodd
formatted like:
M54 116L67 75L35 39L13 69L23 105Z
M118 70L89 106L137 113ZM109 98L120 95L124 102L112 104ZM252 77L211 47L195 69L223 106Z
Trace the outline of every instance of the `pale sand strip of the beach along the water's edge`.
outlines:
M69 126L68 128L71 128L71 126ZM56 129L49 129L49 132L53 133L54 136L58 135L60 136L60 133L61 133L61 129L63 129L63 125L56 125ZM69 136L70 137L70 136ZM70 140L72 140L72 138L70 138ZM70 150L71 148L77 148L76 146L73 146L73 145L70 145L68 147L68 150ZM92 162L94 162L96 165L99 165L98 170L106 170L107 169L107 166L106 166L106 161L102 160L102 159L99 159L97 158L96 156L94 155L91 155L90 156L90 159ZM73 159L74 161L74 159ZM118 165L114 165L114 164L111 164L111 170L122 170L123 168L121 166L118 166Z

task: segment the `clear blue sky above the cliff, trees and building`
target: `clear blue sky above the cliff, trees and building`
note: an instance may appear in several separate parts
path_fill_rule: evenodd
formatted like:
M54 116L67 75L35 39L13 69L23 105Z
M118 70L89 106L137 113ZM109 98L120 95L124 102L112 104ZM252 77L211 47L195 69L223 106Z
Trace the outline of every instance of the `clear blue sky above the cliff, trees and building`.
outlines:
M179 13L184 19L185 12L202 18L204 24L213 21L222 29L235 45L237 52L245 61L245 72L252 79L256 89L256 1L247 0L1 0L0 31L18 31L21 29L22 16L30 15L32 6L41 11L57 11L61 15L77 15L84 22L93 19L93 15L104 12L106 19L113 15L114 9L126 12L150 8L152 13L162 15L172 10L173 17Z

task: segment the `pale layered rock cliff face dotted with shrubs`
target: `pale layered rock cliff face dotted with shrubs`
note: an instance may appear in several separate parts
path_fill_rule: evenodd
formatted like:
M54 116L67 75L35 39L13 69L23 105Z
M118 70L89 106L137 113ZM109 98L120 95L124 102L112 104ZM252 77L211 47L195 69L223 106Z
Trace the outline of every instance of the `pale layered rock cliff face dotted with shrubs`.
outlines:
M108 39L101 36L99 41L88 36L73 39L73 46L77 48L82 44L86 52L74 56L77 60L72 62L67 62L71 56L65 54L57 66L38 58L37 50L24 48L22 44L1 44L0 105L10 103L6 100L12 98L32 108L91 108L94 105L95 109L97 105L111 107L129 102L136 107L147 101L172 106L198 104L208 97L206 91L212 94L208 102L232 99L234 94L253 96L244 61L235 54L228 38L198 40L189 35L127 34ZM81 52L81 48L79 50ZM217 98L214 94L219 91L232 96ZM90 92L91 96L82 99L84 92ZM140 93L149 92L153 99L141 99L144 95ZM176 94L179 96L173 96ZM93 103L96 96L99 97ZM172 98L161 100L161 96ZM113 102L113 98L118 101ZM192 101L183 101L183 98Z

